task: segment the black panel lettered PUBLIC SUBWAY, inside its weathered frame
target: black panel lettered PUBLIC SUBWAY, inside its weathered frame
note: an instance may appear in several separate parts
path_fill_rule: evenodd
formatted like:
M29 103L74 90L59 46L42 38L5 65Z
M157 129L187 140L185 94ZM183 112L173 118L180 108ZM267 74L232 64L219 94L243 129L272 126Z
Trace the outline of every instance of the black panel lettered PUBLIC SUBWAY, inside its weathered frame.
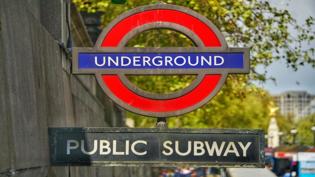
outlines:
M256 134L58 133L56 160L80 162L246 162L259 155Z

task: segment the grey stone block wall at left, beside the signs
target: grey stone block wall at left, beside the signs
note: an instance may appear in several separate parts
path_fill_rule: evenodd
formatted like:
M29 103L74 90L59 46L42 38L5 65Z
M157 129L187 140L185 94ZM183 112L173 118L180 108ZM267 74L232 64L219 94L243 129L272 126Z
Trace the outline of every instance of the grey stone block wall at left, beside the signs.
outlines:
M50 166L48 127L109 127L112 117L124 126L125 115L93 76L71 74L56 43L67 35L64 10L62 0L0 0L0 176L131 176L130 167Z

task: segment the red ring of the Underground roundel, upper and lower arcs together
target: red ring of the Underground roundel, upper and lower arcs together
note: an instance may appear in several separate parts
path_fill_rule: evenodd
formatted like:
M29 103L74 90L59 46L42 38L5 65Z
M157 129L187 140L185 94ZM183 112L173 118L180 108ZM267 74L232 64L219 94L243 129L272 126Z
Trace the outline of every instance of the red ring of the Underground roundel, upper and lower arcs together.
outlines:
M221 47L215 33L202 21L183 12L157 9L140 12L127 17L114 26L105 37L102 47L117 47L121 39L134 28L146 23L165 21L192 30L206 47ZM197 104L206 98L219 83L221 75L206 75L190 93L171 100L153 100L131 92L117 75L102 75L111 92L123 102L140 110L152 112L178 111Z

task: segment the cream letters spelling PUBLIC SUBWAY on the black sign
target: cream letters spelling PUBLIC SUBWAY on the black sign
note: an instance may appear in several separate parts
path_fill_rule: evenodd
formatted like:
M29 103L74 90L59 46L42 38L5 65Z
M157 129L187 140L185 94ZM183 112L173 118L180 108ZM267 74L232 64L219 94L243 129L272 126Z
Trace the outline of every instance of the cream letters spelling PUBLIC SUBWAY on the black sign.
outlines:
M125 151L120 151L118 152L117 151L117 141L116 140L113 140L112 141L112 146L111 143L107 140L99 140L99 147L100 147L100 155L106 155L106 154L110 154L112 153L113 155L129 155L129 140L126 140L125 142ZM132 153L136 154L136 155L145 155L147 153L147 151L142 151L142 152L139 152L135 149L135 146L138 144L138 143L142 143L142 144L145 144L147 145L147 142L144 141L144 140L137 140L135 142L133 142L131 144L131 151ZM74 146L71 146L71 144L74 144ZM249 148L251 142L248 142L245 146L243 145L242 142L225 142L223 141L220 145L220 147L218 146L217 142L216 141L213 141L212 142L212 146L210 147L210 144L208 141L188 141L188 148L187 148L187 151L186 152L180 152L179 151L179 141L175 141L175 152L174 152L174 149L172 147L170 147L169 145L173 144L172 141L164 141L163 143L163 151L162 153L166 156L169 156L173 153L177 153L178 155L180 156L186 156L190 153L193 153L194 156L201 156L201 155L204 155L206 153L206 151L208 152L209 156L213 156L214 155L214 152L216 152L216 155L217 156L221 156L222 155L222 152L223 153L223 156L227 156L228 153L234 153L237 157L240 156L243 156L243 157L246 157L246 151L247 149ZM227 146L225 146L227 144ZM242 148L242 152L239 153L236 146L240 146ZM67 154L70 154L71 153L71 150L72 149L77 149L79 147L79 142L77 140L67 140ZM81 140L81 151L84 153L84 154L87 154L87 155L92 155L94 154L96 151L97 151L97 148L98 148L98 140L94 140L94 149L93 151L86 151L84 149L84 140ZM193 151L192 151L192 148L193 148Z

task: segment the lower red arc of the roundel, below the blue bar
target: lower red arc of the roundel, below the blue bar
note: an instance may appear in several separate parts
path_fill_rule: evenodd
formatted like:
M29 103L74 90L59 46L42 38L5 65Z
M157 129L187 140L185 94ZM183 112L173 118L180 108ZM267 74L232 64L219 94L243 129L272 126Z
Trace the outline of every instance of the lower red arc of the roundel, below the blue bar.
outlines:
M120 100L138 109L151 112L170 112L185 109L206 98L219 82L221 75L206 75L191 92L171 100L153 100L131 92L117 75L102 75L107 87Z

